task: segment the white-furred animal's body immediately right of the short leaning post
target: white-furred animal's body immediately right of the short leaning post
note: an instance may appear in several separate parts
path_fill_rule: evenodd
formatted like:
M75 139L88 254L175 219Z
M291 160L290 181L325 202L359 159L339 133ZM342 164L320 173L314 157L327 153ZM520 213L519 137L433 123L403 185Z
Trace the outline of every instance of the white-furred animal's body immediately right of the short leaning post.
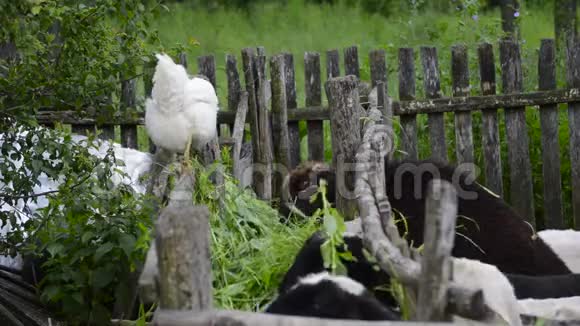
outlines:
M454 258L453 280L469 289L482 289L485 303L491 310L510 325L521 325L514 290L497 267L477 260Z

